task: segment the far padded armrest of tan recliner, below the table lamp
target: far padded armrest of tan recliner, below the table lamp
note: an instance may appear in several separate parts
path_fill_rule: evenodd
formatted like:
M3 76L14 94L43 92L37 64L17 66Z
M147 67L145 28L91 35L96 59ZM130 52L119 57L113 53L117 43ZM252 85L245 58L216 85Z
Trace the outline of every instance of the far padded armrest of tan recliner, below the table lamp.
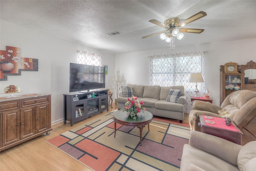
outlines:
M221 110L221 107L214 105L212 103L206 102L206 101L195 100L193 103L192 109L209 111L209 112L217 114L218 111Z

